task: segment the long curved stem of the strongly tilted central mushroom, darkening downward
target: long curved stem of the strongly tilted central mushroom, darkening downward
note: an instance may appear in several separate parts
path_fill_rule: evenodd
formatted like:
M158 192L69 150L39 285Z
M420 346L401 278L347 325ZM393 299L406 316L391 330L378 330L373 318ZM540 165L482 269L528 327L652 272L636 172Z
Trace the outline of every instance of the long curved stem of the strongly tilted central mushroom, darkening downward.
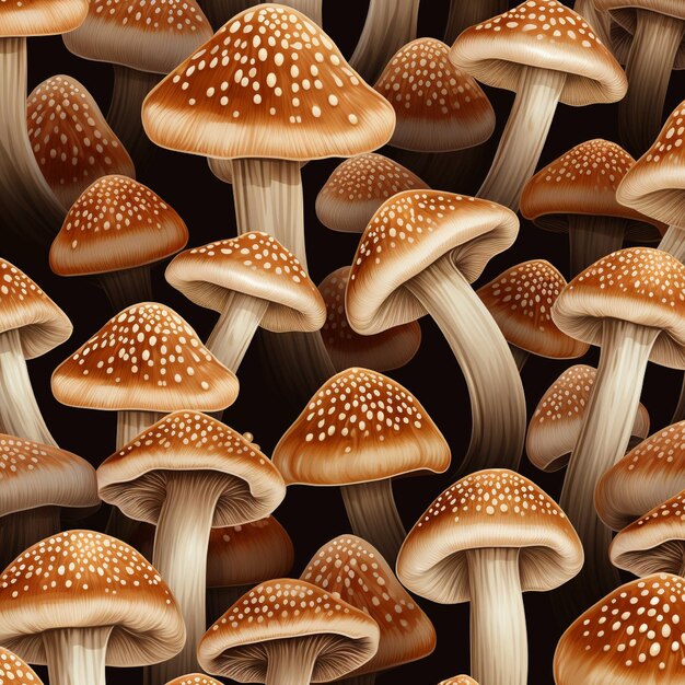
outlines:
M525 439L525 397L495 320L449 255L405 287L438 324L468 386L473 428L461 473L515 469Z

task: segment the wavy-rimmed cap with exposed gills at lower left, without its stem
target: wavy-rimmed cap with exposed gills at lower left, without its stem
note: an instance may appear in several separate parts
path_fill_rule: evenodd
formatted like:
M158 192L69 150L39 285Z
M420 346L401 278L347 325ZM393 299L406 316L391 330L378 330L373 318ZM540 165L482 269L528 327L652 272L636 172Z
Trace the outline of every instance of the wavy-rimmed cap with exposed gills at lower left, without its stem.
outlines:
M129 519L156 524L167 476L183 472L224 477L212 526L268 516L286 497L267 456L217 419L186 410L165 416L108 456L97 468L97 487L102 499Z

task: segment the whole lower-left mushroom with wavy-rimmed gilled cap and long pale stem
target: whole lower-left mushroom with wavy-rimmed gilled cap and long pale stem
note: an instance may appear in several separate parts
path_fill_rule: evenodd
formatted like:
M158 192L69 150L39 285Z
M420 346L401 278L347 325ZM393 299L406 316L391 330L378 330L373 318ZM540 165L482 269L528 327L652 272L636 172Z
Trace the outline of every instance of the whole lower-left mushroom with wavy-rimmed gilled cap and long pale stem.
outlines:
M186 626L183 650L150 670L164 683L197 670L206 629L207 549L212 527L269 515L286 496L271 462L241 434L197 411L175 411L97 468L102 499L129 519L156 525L152 564Z

